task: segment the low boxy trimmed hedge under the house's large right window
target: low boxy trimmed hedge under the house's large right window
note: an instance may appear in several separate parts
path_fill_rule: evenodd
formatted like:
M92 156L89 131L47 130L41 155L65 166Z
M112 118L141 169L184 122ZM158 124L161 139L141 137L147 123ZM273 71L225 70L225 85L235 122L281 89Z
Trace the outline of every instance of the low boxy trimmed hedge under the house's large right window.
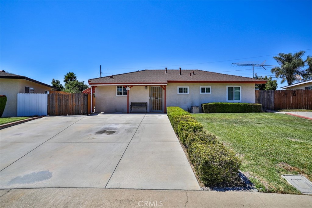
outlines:
M204 103L202 112L209 113L261 113L262 105L254 103Z

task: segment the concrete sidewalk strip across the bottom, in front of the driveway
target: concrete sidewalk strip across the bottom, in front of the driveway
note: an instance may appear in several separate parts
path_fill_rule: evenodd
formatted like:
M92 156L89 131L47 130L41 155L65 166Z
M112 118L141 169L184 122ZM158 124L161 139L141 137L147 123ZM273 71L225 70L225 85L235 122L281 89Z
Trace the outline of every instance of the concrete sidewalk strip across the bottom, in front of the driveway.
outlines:
M44 188L0 194L1 207L312 207L312 196L258 192Z

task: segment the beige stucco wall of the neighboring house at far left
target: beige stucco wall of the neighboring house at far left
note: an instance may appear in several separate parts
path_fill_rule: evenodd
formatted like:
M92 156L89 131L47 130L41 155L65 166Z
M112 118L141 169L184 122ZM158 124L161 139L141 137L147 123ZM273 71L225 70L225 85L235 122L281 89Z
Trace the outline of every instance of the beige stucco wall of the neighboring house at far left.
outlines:
M17 116L17 93L25 93L25 87L34 88L34 93L45 93L51 88L21 79L1 79L0 94L7 96L7 104L5 106L2 117Z

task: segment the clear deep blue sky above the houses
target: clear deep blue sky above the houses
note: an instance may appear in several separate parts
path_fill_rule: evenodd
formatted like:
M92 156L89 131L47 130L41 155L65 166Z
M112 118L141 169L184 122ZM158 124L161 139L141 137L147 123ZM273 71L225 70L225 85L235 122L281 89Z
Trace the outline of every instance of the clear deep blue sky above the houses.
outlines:
M0 69L46 84L68 71L87 82L100 77L100 65L103 76L167 66L252 77L251 67L231 64L312 54L311 8L311 1L1 1Z

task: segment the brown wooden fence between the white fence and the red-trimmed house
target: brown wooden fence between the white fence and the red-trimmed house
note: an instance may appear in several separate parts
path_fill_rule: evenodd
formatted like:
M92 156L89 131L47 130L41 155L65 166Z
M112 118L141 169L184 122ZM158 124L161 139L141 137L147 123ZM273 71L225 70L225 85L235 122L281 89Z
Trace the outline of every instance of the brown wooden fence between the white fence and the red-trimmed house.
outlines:
M87 115L88 94L84 93L48 94L48 114L54 116Z

